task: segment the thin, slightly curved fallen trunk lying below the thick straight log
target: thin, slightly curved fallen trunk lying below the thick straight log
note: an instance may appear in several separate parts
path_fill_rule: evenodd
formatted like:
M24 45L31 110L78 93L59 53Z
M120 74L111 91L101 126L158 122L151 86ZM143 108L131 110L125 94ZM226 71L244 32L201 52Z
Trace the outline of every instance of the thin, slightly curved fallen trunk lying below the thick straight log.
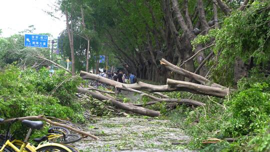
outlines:
M195 101L195 100L192 100L192 99L177 99L177 98L162 98L160 100L156 100L156 101L150 101L150 102L147 102L147 103L139 103L139 104L132 104L132 105L136 105L136 106L142 106L142 105L151 105L151 104L155 104L157 102L176 102L176 103L184 103L184 104L192 104L192 105L195 105L195 106L204 106L205 103L202 103L202 102L199 102L199 101Z

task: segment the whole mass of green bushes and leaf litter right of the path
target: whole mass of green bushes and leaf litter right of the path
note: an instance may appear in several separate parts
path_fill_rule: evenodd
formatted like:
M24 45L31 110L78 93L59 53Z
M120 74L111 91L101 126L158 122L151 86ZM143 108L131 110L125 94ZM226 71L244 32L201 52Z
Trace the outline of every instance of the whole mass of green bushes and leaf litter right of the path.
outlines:
M206 105L194 110L178 106L168 112L168 117L193 137L190 148L202 151L270 150L269 81L270 78L243 78L239 81L239 90L224 99L193 95L193 99L200 98ZM188 94L180 96L185 98ZM224 105L220 104L222 102ZM202 143L208 137L233 137L235 141Z

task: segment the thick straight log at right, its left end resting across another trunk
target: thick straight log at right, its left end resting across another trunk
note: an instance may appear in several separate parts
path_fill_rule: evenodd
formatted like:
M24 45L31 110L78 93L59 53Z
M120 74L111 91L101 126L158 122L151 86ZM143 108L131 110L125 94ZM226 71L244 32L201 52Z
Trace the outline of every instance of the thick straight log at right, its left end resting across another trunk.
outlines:
M192 93L213 95L213 96L217 96L217 97L224 97L227 95L227 93L230 92L230 90L228 88L222 89L219 87L205 86L205 85L201 85L201 84L180 81L180 80L174 80L174 79L169 79L169 78L167 78L167 84L172 85L174 87L177 87L181 90L192 92Z

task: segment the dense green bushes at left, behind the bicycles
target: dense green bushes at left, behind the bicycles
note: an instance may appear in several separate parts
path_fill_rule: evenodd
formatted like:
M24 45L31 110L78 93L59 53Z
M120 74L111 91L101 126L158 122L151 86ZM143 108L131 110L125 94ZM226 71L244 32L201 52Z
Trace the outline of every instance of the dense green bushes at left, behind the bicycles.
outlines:
M79 77L71 77L62 70L50 76L46 68L35 71L5 66L0 70L0 117L44 114L82 121L83 109L74 96L80 82Z

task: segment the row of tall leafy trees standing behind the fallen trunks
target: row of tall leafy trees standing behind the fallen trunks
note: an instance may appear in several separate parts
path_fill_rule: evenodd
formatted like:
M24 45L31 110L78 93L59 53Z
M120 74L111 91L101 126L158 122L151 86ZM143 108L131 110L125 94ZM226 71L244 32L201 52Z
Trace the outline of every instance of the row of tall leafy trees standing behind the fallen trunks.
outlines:
M70 54L71 51L71 54L75 54L71 55L72 73L75 69L76 56L84 56L87 71L88 58L97 50L112 53L127 71L136 73L138 77L158 82L164 82L169 75L168 70L159 64L162 57L202 76L207 76L209 70L218 69L219 65L219 71L226 67L220 71L219 75L223 75L219 77L220 79L235 75L235 80L238 80L241 75L247 74L247 69L253 66L254 62L267 66L267 59L253 57L254 52L259 52L258 48L265 50L268 34L267 14L264 14L265 18L259 17L260 20L253 17L263 14L267 9L262 9L253 16L241 17L242 22L237 27L229 26L230 21L239 21L248 7L255 5L263 8L267 5L266 0L59 0L58 2L59 9L66 16L67 28L62 33L69 39L70 47L66 48L66 52ZM246 26L252 23L247 21L250 19L253 19L254 24L261 23L260 27L255 26L260 30L257 35L251 35L252 30ZM226 38L224 33L230 34L232 30L230 28L242 29L240 31L242 34L249 34L252 38L259 38L261 33L263 34L260 37L261 42L255 43L250 52L243 54L246 39L230 35L226 35L230 36ZM194 41L198 36L200 38ZM225 41L222 43L218 41L222 39L220 37L225 38ZM223 49L230 49L228 51L232 55L226 66L218 62L224 52L228 52ZM234 51L237 53L233 53ZM254 59L257 60L253 61ZM184 79L178 74L172 76L175 79Z

